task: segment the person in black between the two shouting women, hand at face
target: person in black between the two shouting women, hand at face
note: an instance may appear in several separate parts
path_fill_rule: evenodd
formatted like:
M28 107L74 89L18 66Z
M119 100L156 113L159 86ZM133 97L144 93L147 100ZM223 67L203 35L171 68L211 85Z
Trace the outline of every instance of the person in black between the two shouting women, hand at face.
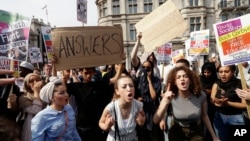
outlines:
M141 129L146 141L160 141L164 138L160 127L153 123L153 115L159 105L161 95L161 80L153 75L153 68L154 64L151 61L143 62L141 74L136 78L135 98L143 102L143 110L146 113L146 122Z

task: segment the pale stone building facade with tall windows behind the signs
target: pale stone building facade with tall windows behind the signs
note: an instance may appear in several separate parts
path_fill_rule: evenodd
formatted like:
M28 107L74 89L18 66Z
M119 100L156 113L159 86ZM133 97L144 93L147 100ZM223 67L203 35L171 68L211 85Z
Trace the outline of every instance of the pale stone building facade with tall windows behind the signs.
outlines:
M134 25L167 0L96 0L98 25L121 25L127 62L136 41ZM217 53L213 24L249 13L250 0L172 0L188 23L188 30L170 41L173 49L184 49L184 43L192 31L210 30L210 55ZM166 23L167 26L167 23ZM185 50L185 49L184 49ZM143 53L140 48L138 55ZM208 56L203 56L202 60ZM130 63L127 63L130 68Z

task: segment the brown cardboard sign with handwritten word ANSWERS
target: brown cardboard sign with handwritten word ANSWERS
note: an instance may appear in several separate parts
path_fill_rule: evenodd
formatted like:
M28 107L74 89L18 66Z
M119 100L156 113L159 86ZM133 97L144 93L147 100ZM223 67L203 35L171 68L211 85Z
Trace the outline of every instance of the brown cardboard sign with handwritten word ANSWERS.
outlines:
M52 29L57 70L95 67L124 61L121 26Z

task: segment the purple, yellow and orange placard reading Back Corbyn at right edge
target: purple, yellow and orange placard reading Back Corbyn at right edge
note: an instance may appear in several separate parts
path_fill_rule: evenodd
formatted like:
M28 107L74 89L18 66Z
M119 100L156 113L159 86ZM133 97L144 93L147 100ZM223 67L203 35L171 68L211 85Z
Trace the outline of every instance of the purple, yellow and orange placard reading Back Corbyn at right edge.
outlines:
M250 60L250 14L213 25L222 65Z

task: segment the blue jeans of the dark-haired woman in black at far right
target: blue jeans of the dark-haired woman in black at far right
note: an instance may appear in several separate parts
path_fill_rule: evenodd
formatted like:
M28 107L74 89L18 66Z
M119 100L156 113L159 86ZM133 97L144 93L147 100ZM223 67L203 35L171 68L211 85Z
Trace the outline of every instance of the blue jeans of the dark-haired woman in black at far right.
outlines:
M214 130L221 141L229 140L229 125L245 125L242 115L224 115L215 112Z

